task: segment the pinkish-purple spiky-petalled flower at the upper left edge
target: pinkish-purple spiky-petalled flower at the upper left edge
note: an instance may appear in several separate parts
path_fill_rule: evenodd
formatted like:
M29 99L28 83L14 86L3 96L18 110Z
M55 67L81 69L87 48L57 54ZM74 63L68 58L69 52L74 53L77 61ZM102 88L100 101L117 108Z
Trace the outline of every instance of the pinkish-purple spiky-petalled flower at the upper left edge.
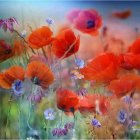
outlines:
M10 17L8 19L0 19L0 28L6 32L9 30L10 32L14 31L14 24L18 25L17 20L14 17Z

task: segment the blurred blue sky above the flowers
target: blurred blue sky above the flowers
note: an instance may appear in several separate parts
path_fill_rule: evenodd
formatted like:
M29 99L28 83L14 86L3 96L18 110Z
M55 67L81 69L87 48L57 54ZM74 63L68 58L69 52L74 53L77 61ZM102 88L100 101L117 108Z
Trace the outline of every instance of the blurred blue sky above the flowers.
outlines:
M94 8L103 17L104 25L110 23L110 14L114 10L132 10L132 16L123 22L131 27L140 26L140 1L80 1L80 0L0 0L0 18L15 17L24 29L27 24L40 26L48 17L59 25L66 20L66 14L74 9ZM112 20L117 23L118 20ZM1 32L0 32L1 34Z

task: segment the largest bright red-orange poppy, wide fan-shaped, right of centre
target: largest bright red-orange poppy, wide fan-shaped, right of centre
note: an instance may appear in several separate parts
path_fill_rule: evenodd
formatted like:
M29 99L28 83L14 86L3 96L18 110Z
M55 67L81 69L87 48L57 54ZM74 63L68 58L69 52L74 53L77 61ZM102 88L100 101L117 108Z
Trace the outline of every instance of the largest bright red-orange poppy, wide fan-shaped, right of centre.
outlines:
M93 59L87 66L80 69L86 80L109 82L116 78L118 61L112 53L104 53Z

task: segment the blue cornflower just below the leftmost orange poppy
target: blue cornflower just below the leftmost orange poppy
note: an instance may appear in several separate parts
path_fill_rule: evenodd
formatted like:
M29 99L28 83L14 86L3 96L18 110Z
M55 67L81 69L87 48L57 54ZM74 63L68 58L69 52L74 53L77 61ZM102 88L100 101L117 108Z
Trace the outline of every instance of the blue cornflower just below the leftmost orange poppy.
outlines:
M15 80L12 84L12 90L16 96L20 96L24 93L23 81Z

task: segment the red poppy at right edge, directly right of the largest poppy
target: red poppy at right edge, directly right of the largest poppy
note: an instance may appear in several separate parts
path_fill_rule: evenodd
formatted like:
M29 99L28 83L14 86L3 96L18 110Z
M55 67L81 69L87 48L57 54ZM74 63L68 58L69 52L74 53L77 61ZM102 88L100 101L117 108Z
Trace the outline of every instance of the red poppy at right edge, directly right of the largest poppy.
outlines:
M120 54L118 56L118 61L120 67L131 70L133 68L140 69L140 54L132 54L132 53L126 53L126 54Z

